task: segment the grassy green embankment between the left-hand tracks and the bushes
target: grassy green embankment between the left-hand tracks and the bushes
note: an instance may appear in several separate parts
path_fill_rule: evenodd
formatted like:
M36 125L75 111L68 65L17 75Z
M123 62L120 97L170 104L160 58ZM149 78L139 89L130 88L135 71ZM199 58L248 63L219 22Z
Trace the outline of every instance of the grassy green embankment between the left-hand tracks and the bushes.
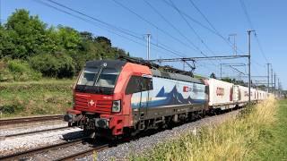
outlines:
M0 117L64 114L74 80L0 82Z

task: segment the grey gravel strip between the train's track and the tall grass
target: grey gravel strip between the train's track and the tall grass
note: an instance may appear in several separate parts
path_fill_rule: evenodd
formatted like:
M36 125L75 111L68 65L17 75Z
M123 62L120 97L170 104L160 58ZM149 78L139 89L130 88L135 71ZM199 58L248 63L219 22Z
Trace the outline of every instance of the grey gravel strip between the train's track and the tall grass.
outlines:
M140 138L139 140L133 140L120 144L114 148L108 148L103 151L100 151L97 154L98 160L126 160L130 154L143 154L147 149L151 149L155 145L170 139L175 139L179 135L194 132L196 133L197 129L203 127L204 125L214 125L223 123L228 119L235 118L239 114L239 110L232 111L226 114L214 115L211 117L205 117L201 120L192 123L186 123L178 127L173 128L172 130L161 131L151 136ZM92 160L92 157L83 157L78 160Z

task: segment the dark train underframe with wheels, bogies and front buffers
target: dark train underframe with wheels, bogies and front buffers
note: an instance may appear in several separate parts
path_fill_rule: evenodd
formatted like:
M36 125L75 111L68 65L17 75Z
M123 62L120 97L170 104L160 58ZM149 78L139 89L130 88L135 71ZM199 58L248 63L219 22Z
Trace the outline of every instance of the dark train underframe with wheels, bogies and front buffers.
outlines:
M255 103L255 102L253 102ZM247 104L244 104L244 106ZM227 109L239 108L241 106L234 105L232 108L214 108L209 106L206 108L205 106L193 106L193 107L174 107L171 108L167 113L167 109L162 108L162 110L158 110L158 112L166 113L165 115L161 115L158 117L154 117L151 114L157 114L153 109L153 111L142 111L142 112L133 112L133 125L122 127L121 134L114 135L114 132L117 128L115 126L109 126L109 123L112 122L113 117L109 115L109 117L102 117L100 114L94 113L77 113L77 114L66 114L65 121L69 123L69 126L77 126L83 129L83 133L85 136L89 138L102 137L109 140L117 140L120 138L129 138L134 137L142 131L148 130L157 130L161 128L169 128L173 127L178 123L187 123L189 121L195 121L197 119L203 118L205 114L221 114L222 111ZM115 129L116 128L116 129Z

